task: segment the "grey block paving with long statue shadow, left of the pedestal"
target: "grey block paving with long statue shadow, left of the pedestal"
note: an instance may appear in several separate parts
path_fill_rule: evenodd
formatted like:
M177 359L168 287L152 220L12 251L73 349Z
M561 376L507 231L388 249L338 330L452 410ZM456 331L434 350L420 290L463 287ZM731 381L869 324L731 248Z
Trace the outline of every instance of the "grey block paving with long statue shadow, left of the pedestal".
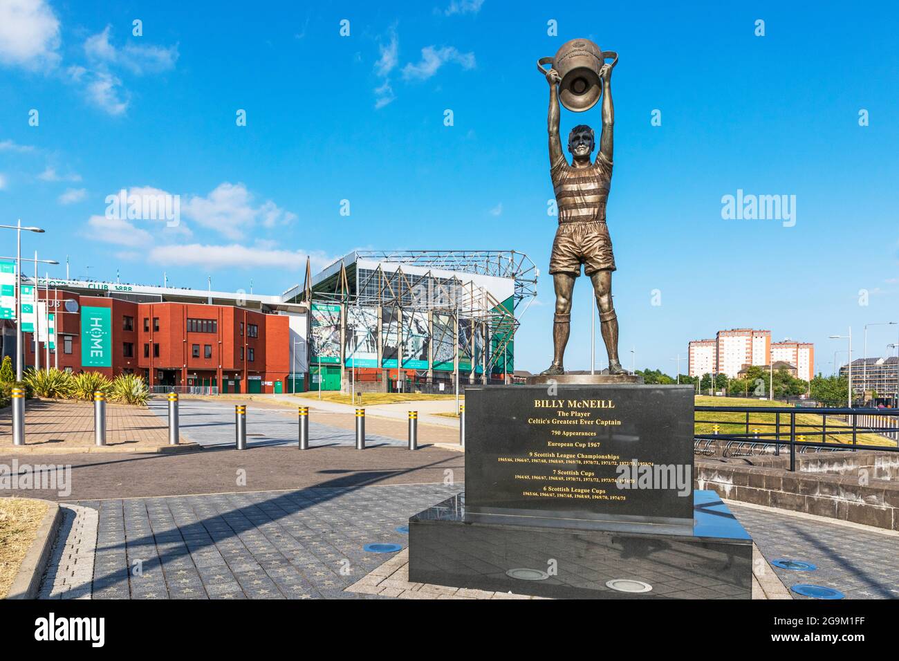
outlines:
M365 545L405 547L408 535L397 528L459 488L310 488L79 502L99 519L90 597L360 597L344 589L390 558L366 551ZM91 554L80 550L85 557ZM54 554L43 594L86 598L83 590L70 590L59 580L76 570L67 567L67 558Z

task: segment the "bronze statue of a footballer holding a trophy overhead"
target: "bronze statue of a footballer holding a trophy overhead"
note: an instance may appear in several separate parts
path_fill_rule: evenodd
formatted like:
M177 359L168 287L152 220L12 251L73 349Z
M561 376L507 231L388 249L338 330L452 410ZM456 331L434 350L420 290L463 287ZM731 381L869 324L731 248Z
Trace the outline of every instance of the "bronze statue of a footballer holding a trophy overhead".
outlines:
M562 153L559 140L559 85L562 76L556 70L560 60L571 58L571 49L563 53L569 44L579 49L578 55L595 56L598 78L601 79L602 97L602 133L600 151L595 162L591 162L594 139L593 130L584 124L575 126L568 135L568 151L572 155L572 164L568 165ZM556 315L553 319L553 363L544 375L565 374L565 344L571 324L571 297L574 281L581 274L590 278L596 296L596 305L600 310L602 340L609 353L609 373L624 374L618 356L618 318L612 307L612 272L615 271L615 257L612 255L612 243L609 228L606 227L606 201L609 199L612 176L612 130L615 124L615 112L612 107L611 76L612 67L618 61L607 64L602 57L612 54L602 53L590 41L574 40L559 49L562 58L556 54L553 68L545 71L549 83L549 165L553 188L556 192L559 225L556 239L553 242L552 255L549 260L549 273L553 276L556 289ZM551 61L544 58L541 62ZM601 64L601 67L599 66ZM542 67L541 67L541 70ZM589 82L576 74L573 80L565 78L565 94L589 94ZM599 85L599 81L597 81ZM586 107L572 108L580 112L592 107L599 94ZM566 107L572 107L565 104Z

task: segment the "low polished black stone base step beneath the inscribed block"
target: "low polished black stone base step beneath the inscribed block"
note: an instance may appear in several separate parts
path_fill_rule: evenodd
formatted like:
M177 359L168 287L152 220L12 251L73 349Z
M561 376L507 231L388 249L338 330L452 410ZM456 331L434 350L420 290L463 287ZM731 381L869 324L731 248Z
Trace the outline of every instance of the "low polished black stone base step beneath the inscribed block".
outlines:
M751 599L752 539L714 491L693 496L692 530L672 531L473 521L461 494L409 519L409 580L562 599Z

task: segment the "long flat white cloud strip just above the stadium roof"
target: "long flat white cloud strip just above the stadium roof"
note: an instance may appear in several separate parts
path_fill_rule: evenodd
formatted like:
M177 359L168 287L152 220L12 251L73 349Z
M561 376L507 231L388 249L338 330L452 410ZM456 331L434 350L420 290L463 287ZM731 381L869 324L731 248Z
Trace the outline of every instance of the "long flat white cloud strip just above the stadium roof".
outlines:
M161 265L184 264L189 261L194 268L277 268L299 271L306 268L306 254L301 251L271 250L264 247L209 246L156 246L150 251L149 261ZM314 260L315 261L315 260ZM324 261L319 259L318 261Z

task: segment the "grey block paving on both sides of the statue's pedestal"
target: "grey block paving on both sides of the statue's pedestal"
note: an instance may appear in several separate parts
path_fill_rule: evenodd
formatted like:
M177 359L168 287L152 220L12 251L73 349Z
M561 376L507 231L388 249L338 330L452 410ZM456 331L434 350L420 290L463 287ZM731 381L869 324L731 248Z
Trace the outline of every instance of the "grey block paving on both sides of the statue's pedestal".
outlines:
M64 526L41 594L61 599L394 596L383 589L378 590L381 594L365 594L358 586L357 591L344 592L360 581L365 585L362 579L394 558L366 551L365 545L405 549L408 536L398 529L407 525L408 517L463 487L309 487L78 501L67 509L85 517L85 524ZM769 562L789 558L817 565L815 572L776 569L787 587L813 583L836 588L849 598L897 596L895 535L770 509L731 507ZM91 560L88 584L85 562Z

